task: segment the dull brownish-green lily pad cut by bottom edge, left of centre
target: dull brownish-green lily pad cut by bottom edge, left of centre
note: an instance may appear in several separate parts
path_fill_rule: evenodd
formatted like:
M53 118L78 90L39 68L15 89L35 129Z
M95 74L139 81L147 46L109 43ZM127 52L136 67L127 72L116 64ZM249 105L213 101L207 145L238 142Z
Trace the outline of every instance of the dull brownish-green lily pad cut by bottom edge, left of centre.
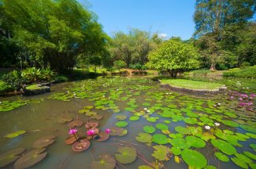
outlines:
M109 154L102 154L98 161L93 161L91 166L92 169L114 169L115 158Z

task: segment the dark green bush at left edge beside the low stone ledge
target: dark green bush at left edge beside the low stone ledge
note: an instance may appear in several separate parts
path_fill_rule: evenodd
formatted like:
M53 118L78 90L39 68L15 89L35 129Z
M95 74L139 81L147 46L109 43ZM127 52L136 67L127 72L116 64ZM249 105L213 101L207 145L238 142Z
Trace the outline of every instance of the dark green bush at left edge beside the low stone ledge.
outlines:
M5 82L6 85L9 85L11 88L19 90L21 85L24 84L24 77L21 76L20 72L13 70L9 74L4 74L2 76L2 81Z

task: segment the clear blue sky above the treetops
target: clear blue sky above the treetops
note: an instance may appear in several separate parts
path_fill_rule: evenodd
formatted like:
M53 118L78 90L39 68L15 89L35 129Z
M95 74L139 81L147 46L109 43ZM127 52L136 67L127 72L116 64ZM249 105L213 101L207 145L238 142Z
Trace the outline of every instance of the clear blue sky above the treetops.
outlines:
M104 31L112 36L117 31L138 28L151 33L166 34L167 38L186 40L195 31L193 0L79 0L88 2L97 14Z

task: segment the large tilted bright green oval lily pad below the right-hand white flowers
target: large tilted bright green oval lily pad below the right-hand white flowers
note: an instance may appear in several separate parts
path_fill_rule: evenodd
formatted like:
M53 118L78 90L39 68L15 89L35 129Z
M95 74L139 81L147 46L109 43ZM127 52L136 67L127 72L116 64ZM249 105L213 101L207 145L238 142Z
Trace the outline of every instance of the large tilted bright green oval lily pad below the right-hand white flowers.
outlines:
M225 142L224 140L220 139L212 139L210 142L213 144L214 147L220 149L223 153L226 153L228 155L236 153L236 148L229 144L229 142Z

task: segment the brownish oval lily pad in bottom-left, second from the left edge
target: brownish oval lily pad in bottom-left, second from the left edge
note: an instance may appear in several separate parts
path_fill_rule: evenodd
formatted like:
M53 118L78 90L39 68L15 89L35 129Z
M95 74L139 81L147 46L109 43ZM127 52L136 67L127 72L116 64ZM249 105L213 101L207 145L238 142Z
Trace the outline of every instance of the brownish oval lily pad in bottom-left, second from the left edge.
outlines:
M46 150L45 148L33 149L30 152L25 153L18 160L16 160L14 164L14 168L15 169L27 168L39 163L47 155L47 153L42 153L45 150Z

